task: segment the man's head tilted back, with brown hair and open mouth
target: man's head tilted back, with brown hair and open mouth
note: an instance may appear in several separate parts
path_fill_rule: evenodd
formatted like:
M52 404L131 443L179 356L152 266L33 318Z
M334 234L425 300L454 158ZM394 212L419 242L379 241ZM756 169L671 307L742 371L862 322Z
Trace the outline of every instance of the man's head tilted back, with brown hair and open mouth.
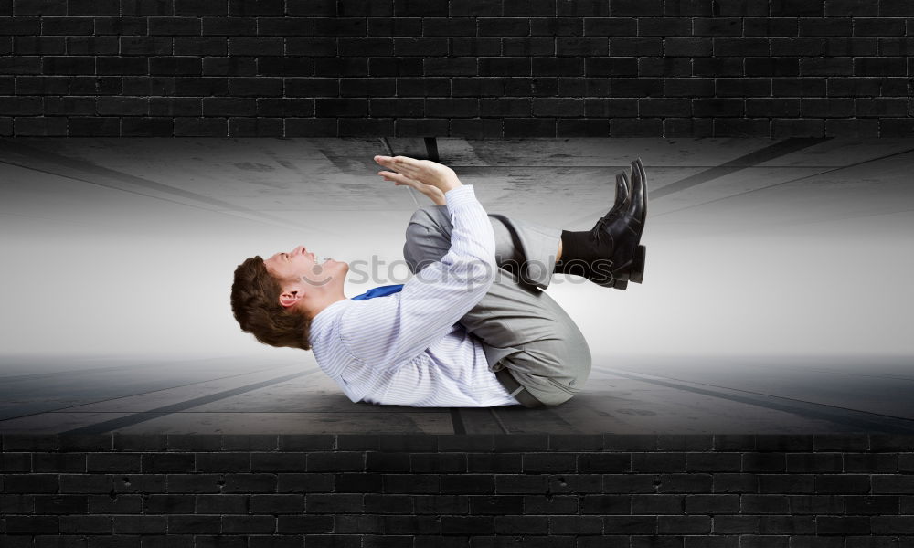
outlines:
M349 265L315 261L303 246L270 258L246 259L235 269L231 307L241 330L271 346L311 349L308 329L318 312L345 299Z

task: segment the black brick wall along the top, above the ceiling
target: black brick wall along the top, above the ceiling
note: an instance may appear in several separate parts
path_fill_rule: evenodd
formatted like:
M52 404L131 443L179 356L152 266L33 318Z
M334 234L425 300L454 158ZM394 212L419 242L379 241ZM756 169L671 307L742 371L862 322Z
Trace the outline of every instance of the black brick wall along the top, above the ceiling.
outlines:
M910 0L0 0L0 135L909 136Z

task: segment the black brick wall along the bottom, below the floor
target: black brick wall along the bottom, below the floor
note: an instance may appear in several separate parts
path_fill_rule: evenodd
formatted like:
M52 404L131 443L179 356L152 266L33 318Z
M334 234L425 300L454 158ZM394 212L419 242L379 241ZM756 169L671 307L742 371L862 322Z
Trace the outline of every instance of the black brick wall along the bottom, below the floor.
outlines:
M903 548L912 450L866 435L5 436L0 545Z

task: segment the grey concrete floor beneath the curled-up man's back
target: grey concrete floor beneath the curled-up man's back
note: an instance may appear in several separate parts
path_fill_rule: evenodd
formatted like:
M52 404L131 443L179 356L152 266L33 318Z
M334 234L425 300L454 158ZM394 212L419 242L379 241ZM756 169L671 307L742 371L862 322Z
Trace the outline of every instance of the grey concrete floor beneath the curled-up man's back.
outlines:
M581 394L546 409L353 404L310 354L7 365L3 433L914 433L903 359L597 360Z

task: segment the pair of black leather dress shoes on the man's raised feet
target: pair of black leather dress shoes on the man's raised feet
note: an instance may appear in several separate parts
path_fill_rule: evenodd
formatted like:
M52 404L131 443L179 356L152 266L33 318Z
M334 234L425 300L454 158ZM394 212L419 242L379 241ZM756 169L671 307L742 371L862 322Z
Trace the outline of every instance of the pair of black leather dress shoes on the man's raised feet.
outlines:
M644 221L647 217L646 174L641 159L632 162L632 184L624 174L616 175L616 185L630 187L631 194L622 207L600 218L591 229L594 245L606 250L604 258L591 264L588 278L600 286L625 290L628 282L642 283L647 248L641 245Z

